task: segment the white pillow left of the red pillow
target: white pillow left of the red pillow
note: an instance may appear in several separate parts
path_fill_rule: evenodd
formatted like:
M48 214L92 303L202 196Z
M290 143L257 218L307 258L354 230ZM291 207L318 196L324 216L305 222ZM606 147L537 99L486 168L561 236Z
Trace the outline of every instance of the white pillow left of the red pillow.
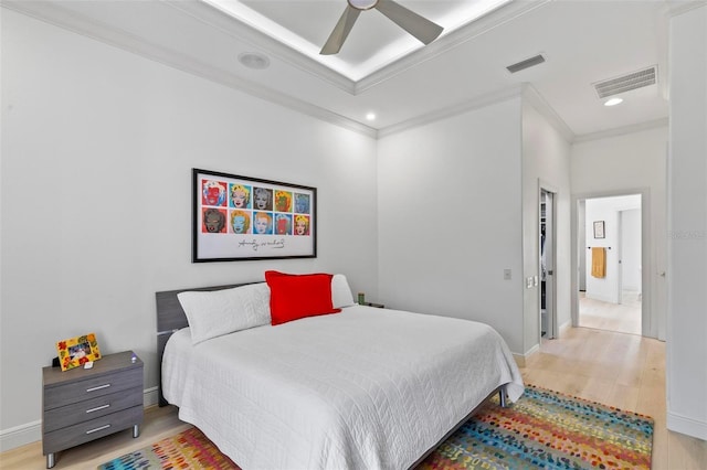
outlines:
M270 288L265 282L177 295L193 344L247 328L270 324Z

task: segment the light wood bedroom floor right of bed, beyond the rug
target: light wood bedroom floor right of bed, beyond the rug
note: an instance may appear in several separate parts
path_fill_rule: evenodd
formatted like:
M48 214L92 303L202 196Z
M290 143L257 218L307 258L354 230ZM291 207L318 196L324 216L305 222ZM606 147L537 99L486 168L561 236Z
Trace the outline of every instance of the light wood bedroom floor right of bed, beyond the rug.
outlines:
M707 441L666 428L664 342L572 328L544 341L521 372L527 383L651 416L654 470L707 469Z

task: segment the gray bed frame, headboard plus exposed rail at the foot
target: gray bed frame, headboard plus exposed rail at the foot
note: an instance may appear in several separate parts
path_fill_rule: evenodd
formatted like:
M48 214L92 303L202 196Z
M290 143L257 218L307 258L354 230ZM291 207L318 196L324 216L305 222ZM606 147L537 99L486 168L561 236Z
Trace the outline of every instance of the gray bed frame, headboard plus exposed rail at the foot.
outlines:
M240 286L247 286L249 284L257 284L257 282L243 282L243 284L232 284L225 286L212 286L212 287L196 287L190 289L178 289L178 290L168 290L162 292L156 292L155 298L157 301L157 361L159 367L159 406L167 406L169 403L162 396L162 355L165 354L165 345L167 344L167 340L176 331L189 327L189 322L187 320L187 313L181 308L181 303L179 303L179 299L177 295L179 292L183 292L187 290L190 291L211 291L211 290L223 290L231 289ZM494 395L498 394L498 398L502 407L506 407L506 386L502 385L495 391L493 391L478 406L476 406L468 415L466 415L456 426L454 426L442 439L437 441L434 446L430 448L416 462L414 462L410 469L414 469L422 461L428 458L430 453L434 451L442 442L444 442L454 431L456 431L464 423L466 423L472 416L474 416L481 408Z

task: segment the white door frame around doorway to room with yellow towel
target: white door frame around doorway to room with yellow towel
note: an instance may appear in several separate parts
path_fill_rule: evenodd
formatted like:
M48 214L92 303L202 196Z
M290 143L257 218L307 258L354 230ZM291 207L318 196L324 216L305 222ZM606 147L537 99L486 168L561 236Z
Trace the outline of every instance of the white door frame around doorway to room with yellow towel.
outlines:
M597 197L614 197L631 194L641 194L641 334L646 338L658 338L658 321L651 308L651 274L653 264L651 257L651 190L639 188L633 190L618 190L591 192L571 195L570 214L570 239L571 239L571 320L572 327L579 327L579 250L584 247L579 246L579 202Z

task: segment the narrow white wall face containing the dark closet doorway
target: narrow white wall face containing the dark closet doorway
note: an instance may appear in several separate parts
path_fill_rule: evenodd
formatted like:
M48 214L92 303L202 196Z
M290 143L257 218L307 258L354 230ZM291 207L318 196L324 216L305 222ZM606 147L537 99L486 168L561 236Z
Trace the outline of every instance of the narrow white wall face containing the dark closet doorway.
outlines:
M557 327L570 322L570 145L532 105L523 106L523 259L524 277L540 276L539 191L555 193L555 306ZM548 278L550 279L550 278ZM540 284L524 289L524 353L539 345ZM549 301L548 298L546 301ZM559 330L559 328L557 328Z

